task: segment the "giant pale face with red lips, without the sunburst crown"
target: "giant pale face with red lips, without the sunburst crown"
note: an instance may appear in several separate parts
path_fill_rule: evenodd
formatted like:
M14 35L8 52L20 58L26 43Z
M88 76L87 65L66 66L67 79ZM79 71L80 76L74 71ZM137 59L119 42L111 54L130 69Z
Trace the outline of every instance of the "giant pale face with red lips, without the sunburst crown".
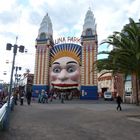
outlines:
M71 57L61 57L55 60L50 71L50 81L54 88L77 88L80 82L79 63Z

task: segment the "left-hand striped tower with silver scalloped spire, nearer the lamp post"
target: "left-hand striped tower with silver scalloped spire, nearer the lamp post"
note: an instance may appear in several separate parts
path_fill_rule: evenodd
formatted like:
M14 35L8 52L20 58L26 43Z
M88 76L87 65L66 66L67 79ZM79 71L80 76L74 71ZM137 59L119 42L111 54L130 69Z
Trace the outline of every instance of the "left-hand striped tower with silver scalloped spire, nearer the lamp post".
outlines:
M49 87L49 51L53 46L52 22L46 14L41 22L36 39L35 71L33 90L48 90Z

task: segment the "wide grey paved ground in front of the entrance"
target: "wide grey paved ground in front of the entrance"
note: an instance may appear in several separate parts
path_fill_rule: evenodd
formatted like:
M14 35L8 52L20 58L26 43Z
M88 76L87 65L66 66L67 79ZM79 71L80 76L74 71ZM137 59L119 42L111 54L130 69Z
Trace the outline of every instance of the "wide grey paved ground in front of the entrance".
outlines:
M0 140L139 140L140 106L114 102L55 101L15 106Z

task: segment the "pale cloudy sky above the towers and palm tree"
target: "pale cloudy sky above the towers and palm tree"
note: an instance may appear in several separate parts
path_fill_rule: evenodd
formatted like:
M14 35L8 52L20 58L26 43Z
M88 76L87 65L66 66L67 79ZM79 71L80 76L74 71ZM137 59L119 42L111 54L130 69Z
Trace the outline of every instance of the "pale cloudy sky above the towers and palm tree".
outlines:
M53 36L80 37L87 10L91 8L97 24L98 42L133 18L140 19L139 0L0 0L0 80L10 81L12 51L6 51L6 44L24 45L28 53L17 53L16 66L34 73L35 40L40 23L46 13L53 24ZM104 47L99 46L99 51ZM6 64L6 61L9 64ZM3 75L6 71L7 75Z

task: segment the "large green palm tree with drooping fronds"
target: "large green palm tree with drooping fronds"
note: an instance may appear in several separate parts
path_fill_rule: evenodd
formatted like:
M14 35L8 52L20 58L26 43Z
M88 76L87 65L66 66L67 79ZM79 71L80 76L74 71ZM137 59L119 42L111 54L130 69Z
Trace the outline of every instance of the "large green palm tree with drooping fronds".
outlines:
M140 23L135 23L129 18L121 32L114 32L113 35L105 39L101 44L113 45L110 52L100 52L108 54L108 58L97 60L96 65L99 71L106 69L113 73L135 75L136 77L136 104L139 104L138 87L140 83Z

